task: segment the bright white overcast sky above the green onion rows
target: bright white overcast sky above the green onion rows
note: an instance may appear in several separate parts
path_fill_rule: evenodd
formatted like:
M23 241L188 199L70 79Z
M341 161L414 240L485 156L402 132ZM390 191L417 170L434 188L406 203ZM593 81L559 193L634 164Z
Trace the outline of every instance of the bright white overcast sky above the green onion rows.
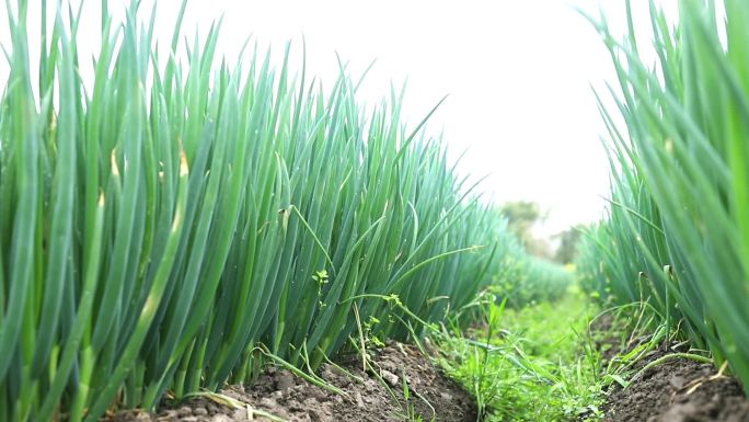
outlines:
M667 10L676 2L658 1ZM111 11L122 12L127 1L110 3ZM145 10L152 3L142 1ZM637 27L647 27L647 0L633 3ZM96 45L99 4L87 2L81 52ZM159 1L162 45L171 39L178 5L178 0ZM354 76L377 59L360 100L373 104L389 94L391 81L400 87L407 79L404 111L412 124L449 94L430 132L443 130L453 157L468 149L459 169L488 174L482 190L495 202L540 203L550 212L542 231L553 233L598 219L600 196L608 194L599 141L604 127L590 85L613 80L613 70L575 8L595 15L603 8L611 26L623 32L621 0L191 0L184 33L192 37L198 27L205 34L223 14L219 52L229 60L249 35L279 55L292 41L300 56L303 34L309 71L329 85L337 75L336 52ZM10 48L5 13L0 10L0 42ZM7 78L2 67L7 64L0 64L0 80Z

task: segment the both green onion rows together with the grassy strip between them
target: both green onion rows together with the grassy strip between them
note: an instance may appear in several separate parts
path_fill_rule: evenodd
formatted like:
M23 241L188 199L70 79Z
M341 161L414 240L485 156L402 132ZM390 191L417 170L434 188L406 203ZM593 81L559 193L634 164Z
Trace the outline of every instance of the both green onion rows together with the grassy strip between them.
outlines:
M182 41L187 1L166 55L137 1L122 22L107 0L100 22L10 3L0 422L233 403L215 392L268 367L337 394L323 365L372 373L395 341L431 350L487 421L615 420L608 391L654 351L749 385L749 3L681 0L672 25L650 2L653 39L629 1L623 38L588 18L619 85L598 93L612 190L576 271L531 256L459 173L428 132L440 104L407 125L403 91L366 104L344 62L334 81L291 66L303 46L220 59L218 24ZM93 80L82 25L101 28ZM630 341L606 357L614 332ZM406 376L382 374L422 420Z

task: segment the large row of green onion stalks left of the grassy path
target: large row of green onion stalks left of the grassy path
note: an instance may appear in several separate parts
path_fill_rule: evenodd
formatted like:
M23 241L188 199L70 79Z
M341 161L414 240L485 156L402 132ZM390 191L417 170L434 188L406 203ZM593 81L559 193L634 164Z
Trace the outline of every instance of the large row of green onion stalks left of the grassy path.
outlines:
M102 5L93 81L76 13L44 12L36 58L26 2L9 10L1 421L152 408L266 355L314 367L359 323L404 338L502 273L506 221L423 124L406 130L396 93L365 109L344 69L330 91L290 75L288 49L280 68L218 65L216 28L186 55L175 32L164 59L154 16L134 2L118 25Z

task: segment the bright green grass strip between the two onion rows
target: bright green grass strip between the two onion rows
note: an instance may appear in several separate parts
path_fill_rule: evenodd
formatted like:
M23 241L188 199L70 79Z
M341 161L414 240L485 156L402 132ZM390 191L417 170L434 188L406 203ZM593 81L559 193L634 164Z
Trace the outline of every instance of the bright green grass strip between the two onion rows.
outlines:
M603 401L587 328L598 312L576 286L556 301L486 300L475 328L440 338L442 366L477 400L485 421L578 421Z

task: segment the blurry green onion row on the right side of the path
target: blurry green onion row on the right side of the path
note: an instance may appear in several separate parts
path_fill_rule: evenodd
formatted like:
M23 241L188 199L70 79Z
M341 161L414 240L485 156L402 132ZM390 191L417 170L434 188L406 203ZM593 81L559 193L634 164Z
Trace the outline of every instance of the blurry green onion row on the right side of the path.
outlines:
M627 2L629 5L629 2ZM597 23L621 82L601 107L612 146L610 216L580 270L617 304L647 303L749 386L749 3L650 3L655 67L632 28ZM621 116L621 117L620 117ZM619 124L623 118L623 125Z

